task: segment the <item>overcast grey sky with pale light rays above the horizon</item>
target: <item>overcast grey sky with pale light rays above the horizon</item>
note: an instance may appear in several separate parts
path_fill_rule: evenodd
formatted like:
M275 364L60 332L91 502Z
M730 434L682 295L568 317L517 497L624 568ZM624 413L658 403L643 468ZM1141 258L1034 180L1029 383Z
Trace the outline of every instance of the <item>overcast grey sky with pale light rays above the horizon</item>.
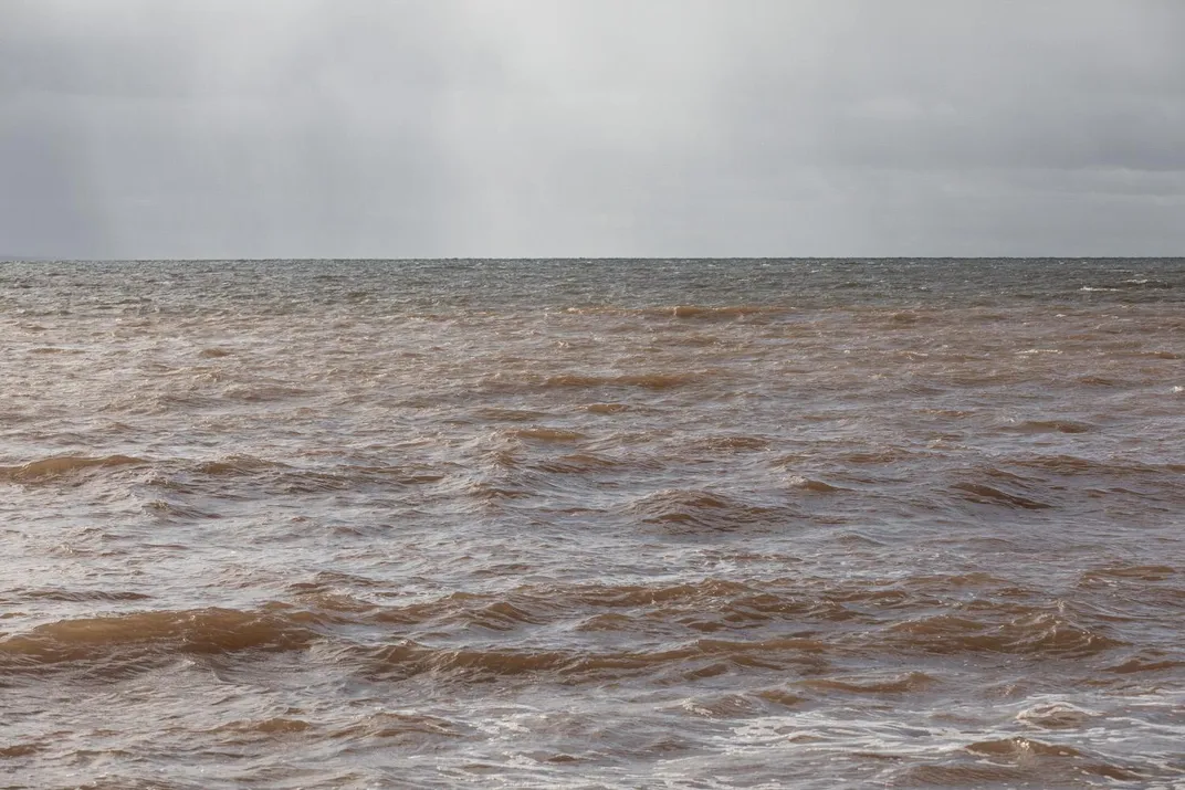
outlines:
M1181 0L0 0L0 258L1185 255Z

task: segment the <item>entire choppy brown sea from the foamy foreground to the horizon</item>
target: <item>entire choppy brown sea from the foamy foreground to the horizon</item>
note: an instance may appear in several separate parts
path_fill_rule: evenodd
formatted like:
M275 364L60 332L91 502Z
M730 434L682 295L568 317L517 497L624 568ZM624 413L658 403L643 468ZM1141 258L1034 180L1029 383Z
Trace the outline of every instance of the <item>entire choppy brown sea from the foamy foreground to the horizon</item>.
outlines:
M0 786L1185 786L1185 261L0 264Z

